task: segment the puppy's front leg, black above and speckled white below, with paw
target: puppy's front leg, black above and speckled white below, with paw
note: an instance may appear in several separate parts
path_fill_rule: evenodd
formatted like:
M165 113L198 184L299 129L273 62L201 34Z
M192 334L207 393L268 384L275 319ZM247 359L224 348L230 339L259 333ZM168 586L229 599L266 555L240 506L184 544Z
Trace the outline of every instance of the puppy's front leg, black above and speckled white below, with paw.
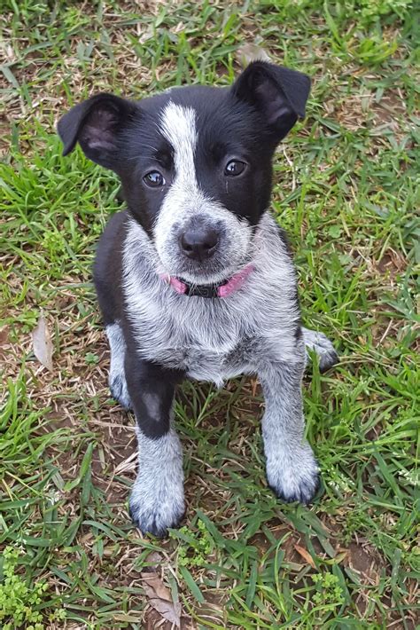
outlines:
M175 384L183 374L141 360L128 351L128 394L136 415L138 471L129 498L133 522L144 533L164 536L184 513L183 451L171 426Z

